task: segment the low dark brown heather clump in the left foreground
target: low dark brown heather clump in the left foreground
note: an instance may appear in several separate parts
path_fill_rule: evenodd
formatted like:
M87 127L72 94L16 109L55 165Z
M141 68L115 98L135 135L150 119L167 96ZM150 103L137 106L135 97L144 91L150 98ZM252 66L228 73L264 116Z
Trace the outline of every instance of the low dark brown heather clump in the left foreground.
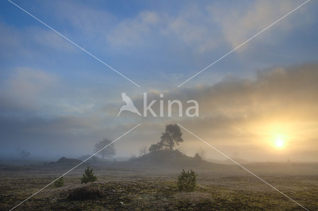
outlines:
M104 196L104 193L99 188L89 186L74 189L68 196L68 200L88 200L97 199Z

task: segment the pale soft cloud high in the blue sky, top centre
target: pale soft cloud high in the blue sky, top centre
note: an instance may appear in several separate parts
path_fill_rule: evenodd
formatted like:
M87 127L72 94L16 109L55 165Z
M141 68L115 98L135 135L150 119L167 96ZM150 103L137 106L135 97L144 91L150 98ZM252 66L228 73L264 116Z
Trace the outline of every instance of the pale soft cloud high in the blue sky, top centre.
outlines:
M141 11L136 17L118 23L106 38L114 46L153 45L154 40L181 43L197 53L214 49L220 39L210 16L202 14L195 5L167 14Z

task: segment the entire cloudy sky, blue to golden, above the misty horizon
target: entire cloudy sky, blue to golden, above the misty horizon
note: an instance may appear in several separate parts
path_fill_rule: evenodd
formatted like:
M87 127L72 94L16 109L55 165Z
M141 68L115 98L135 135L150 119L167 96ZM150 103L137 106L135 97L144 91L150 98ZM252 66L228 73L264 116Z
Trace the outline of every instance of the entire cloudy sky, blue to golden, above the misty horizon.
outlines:
M318 161L318 2L311 0L182 86L185 80L305 0L13 0L0 2L0 158L138 155L166 124L184 126L224 154L249 161ZM117 116L125 92L163 117ZM163 98L159 94L164 94ZM167 116L168 100L199 104ZM225 159L182 130L182 150ZM283 146L275 145L277 140Z

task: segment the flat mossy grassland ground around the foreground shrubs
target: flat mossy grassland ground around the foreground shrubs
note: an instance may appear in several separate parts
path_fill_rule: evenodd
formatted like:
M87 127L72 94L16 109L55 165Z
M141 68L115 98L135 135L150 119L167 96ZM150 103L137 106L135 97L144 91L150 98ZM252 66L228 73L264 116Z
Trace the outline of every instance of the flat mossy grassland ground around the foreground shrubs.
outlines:
M255 176L236 165L195 169L194 192L179 192L176 178L182 169L94 167L98 180L80 184L86 166L65 176L65 186L49 186L16 210L303 210ZM318 164L261 163L246 165L262 179L303 205L318 210ZM1 210L10 210L52 182L68 166L0 166ZM102 198L67 199L77 187L104 192Z

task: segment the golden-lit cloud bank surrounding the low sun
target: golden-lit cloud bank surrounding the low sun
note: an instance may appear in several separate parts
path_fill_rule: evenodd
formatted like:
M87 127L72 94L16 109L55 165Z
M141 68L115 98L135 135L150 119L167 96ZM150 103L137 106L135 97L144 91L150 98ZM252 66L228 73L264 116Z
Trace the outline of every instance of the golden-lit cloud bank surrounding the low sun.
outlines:
M226 77L213 86L171 91L154 90L148 93L147 98L148 102L157 100L153 106L157 114L161 100L159 93L163 93L165 116L167 100L180 100L186 108L186 101L193 99L199 103L199 117L177 117L178 109L174 107L172 118L150 116L142 121L153 122L161 128L168 123L180 123L229 155L238 151L245 155L245 159L266 159L269 155L274 156L275 150L272 149L271 142L275 134L282 134L289 144L286 152L291 153L289 156L296 155L300 153L297 150L300 143L311 146L311 140L316 138L317 70L317 64L303 64L259 71L255 79ZM136 107L142 110L142 96L132 99ZM119 104L117 107L120 106ZM114 113L109 115L116 115L118 111L112 112ZM132 116L124 113L120 118L127 119ZM299 134L295 134L296 132ZM182 147L188 153L194 154L198 140L186 131L184 135L187 141ZM307 150L311 148L312 146Z

